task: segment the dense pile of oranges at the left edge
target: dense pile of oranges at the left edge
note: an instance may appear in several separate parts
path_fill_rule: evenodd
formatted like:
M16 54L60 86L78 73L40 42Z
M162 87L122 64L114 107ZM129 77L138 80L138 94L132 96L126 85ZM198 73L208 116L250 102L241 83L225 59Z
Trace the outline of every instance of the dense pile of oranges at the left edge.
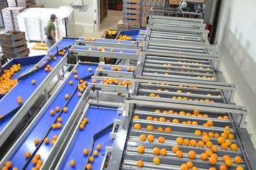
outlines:
M18 80L12 80L11 76L14 76L21 68L21 64L14 64L9 69L4 70L0 76L0 94L8 93L18 83Z

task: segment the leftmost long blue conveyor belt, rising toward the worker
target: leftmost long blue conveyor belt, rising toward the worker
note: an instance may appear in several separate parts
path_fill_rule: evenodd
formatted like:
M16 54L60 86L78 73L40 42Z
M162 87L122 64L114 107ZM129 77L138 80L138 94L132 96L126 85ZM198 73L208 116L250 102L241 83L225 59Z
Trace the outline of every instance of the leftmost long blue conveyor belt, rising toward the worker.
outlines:
M57 47L60 47L59 49L64 49L67 46L70 46L71 44L75 44L75 40L72 39L62 39L60 43L57 45ZM49 51L49 53L56 54L57 53L57 47L52 49L52 51ZM66 51L67 53L67 51ZM42 66L42 61L47 61L47 54L44 56L44 58L39 62L39 66ZM49 65L54 68L61 60L63 56L58 55L57 60L52 60ZM26 79L22 79L22 81L19 81L16 86L14 86L11 91L9 91L8 94L6 94L3 99L0 101L0 108L1 108L1 116L10 116L8 115L12 110L19 107L19 104L17 103L16 99L18 96L22 97L23 103L29 99L29 97L33 94L33 92L37 89L37 87L44 81L44 79L47 77L49 72L45 72L44 70L36 71L31 76L27 77ZM31 81L36 80L37 84L32 85ZM3 117L6 119L6 117ZM1 119L0 119L1 121Z

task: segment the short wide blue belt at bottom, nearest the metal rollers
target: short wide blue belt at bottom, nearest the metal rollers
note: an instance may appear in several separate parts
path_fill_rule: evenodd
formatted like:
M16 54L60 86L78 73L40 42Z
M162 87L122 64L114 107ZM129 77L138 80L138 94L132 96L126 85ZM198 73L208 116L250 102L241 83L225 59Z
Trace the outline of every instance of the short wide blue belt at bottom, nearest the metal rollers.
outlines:
M104 129L109 124L112 124L114 119L120 119L117 110L99 109L93 107L90 107L87 110L85 118L88 119L87 124L85 124L85 129L79 129L75 132L75 139L73 139L72 141L72 144L66 154L65 161L63 162L61 169L83 169L87 159L89 159L88 156L85 156L83 154L83 150L88 149L90 151L93 135L96 134L98 131ZM92 164L92 169L99 169L103 161L105 146L110 146L112 144L112 141L110 141L109 133L110 131L101 135L95 141L93 151L97 150L96 147L98 144L101 144L103 146L103 151L99 151L99 155L94 156L95 161ZM76 162L75 166L73 167L70 166L71 160L75 160Z

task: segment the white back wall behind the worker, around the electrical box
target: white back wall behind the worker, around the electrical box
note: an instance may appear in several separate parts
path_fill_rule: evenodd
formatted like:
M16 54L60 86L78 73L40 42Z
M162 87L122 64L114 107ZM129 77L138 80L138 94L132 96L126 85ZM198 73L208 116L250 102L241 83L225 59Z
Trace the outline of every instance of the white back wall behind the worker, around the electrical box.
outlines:
M88 3L85 12L74 9L76 36L82 36L85 32L95 32L95 0L83 0ZM45 8L59 8L60 6L70 6L70 0L37 0L37 4L44 5Z

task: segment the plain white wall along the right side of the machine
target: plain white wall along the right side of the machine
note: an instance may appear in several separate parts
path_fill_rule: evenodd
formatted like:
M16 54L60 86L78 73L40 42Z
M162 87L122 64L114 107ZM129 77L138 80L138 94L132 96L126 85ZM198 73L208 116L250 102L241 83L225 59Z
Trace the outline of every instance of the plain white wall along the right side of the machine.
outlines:
M247 106L247 130L256 147L256 20L255 0L222 1L215 44L231 81L238 86L236 102Z

